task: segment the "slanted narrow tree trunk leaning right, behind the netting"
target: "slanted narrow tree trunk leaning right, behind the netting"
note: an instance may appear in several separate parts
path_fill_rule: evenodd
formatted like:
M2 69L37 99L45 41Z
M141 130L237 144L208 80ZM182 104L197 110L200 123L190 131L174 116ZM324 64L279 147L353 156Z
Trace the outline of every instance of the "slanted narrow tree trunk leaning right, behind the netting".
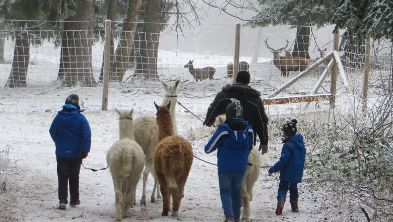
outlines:
M125 71L128 69L129 56L133 49L141 5L142 0L129 0L128 2L123 31L116 47L115 58L110 63L109 81L121 82Z

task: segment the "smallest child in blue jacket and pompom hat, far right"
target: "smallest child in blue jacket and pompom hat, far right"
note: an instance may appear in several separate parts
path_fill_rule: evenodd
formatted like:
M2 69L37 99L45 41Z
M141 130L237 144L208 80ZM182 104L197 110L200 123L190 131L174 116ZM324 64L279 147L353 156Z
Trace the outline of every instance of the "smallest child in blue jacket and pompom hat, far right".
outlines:
M269 169L269 176L280 171L280 184L277 191L276 214L283 213L284 203L289 190L289 202L291 211L299 212L297 205L299 192L297 184L302 181L304 162L306 157L306 147L304 146L303 136L296 134L297 121L292 120L283 126L283 148L280 160Z

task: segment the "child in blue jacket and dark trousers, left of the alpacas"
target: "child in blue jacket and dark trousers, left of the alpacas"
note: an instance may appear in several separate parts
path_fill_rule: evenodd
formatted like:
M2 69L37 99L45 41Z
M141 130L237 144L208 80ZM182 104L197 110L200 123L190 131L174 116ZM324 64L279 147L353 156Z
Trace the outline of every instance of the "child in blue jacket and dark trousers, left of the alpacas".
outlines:
M70 183L70 206L81 204L79 200L79 172L82 159L90 152L91 130L79 106L79 96L71 94L65 99L49 133L56 145L59 209L65 210L68 203Z

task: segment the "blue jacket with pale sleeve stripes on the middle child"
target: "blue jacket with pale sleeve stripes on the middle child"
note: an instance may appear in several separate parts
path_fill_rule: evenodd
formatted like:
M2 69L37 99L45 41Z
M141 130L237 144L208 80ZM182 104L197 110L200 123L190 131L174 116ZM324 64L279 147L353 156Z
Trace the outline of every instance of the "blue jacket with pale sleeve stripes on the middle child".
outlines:
M233 130L230 126L234 127ZM227 120L220 125L205 146L205 152L217 151L218 170L228 173L245 173L251 152L254 132L242 118Z

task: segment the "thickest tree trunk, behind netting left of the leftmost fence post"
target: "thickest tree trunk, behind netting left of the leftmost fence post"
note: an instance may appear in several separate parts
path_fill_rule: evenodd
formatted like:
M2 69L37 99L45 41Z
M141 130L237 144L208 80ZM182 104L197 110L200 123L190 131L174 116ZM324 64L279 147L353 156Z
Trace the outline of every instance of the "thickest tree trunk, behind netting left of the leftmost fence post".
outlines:
M76 15L64 21L58 80L65 86L97 86L92 68L95 0L79 0ZM81 22L83 21L83 22Z

